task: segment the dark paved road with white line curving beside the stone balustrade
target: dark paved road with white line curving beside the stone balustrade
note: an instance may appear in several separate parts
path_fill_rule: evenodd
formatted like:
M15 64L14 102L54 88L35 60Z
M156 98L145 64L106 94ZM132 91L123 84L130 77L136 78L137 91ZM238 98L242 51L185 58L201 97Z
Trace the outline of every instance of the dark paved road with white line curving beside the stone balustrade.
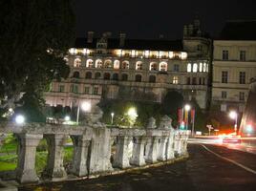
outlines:
M96 180L46 184L42 187L19 190L256 190L256 155L214 145L205 146L209 151L202 145L190 144L188 147L190 158L175 164Z

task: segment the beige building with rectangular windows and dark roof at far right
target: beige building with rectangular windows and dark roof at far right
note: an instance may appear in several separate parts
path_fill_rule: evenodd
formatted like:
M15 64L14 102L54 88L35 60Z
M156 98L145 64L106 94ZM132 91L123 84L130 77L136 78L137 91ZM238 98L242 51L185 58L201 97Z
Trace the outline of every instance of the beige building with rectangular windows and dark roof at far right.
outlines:
M243 112L256 76L256 21L228 21L214 40L212 105Z

